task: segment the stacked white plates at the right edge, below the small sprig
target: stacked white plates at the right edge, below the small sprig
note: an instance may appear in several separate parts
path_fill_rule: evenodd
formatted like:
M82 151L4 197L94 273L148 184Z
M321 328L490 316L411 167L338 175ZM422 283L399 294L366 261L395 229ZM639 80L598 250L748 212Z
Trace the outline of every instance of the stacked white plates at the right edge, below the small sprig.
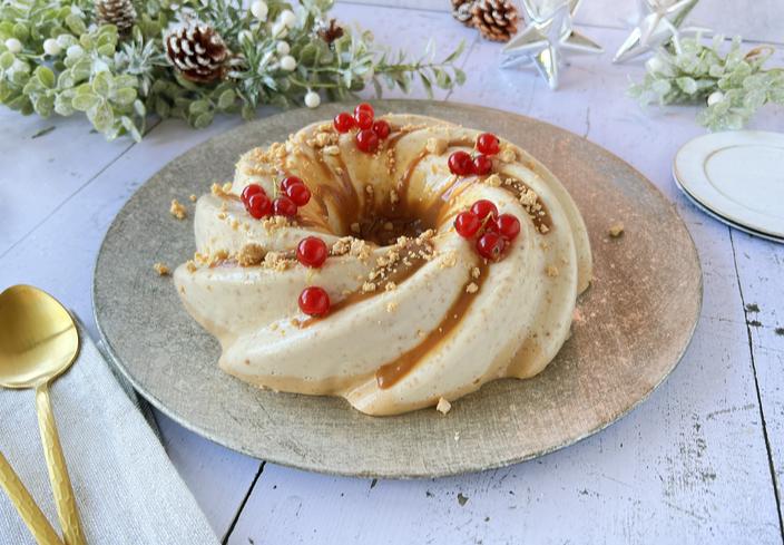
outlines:
M673 176L698 207L746 233L784 243L784 134L714 133L684 145Z

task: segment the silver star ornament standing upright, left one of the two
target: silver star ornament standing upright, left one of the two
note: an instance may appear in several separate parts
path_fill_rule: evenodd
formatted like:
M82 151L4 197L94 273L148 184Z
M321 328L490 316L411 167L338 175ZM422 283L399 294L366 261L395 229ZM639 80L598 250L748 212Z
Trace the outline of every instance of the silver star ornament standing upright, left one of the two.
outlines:
M600 53L604 49L572 28L581 0L538 2L522 0L523 18L529 22L501 49L501 68L533 66L550 89L556 89L565 53Z

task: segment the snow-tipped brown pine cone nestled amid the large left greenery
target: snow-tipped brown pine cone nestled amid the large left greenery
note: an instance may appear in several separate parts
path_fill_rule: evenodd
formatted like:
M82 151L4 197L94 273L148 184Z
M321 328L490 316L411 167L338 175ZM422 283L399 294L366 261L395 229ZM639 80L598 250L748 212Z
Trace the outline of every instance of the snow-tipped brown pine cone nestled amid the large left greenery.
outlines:
M228 49L210 26L192 22L171 30L164 41L166 57L186 79L208 84L226 75Z

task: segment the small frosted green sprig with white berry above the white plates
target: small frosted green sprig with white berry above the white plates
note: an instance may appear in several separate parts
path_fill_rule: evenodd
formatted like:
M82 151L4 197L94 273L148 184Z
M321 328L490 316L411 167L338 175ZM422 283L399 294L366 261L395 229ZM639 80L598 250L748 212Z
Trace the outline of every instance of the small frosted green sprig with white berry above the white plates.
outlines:
M744 53L735 38L723 55L723 42L722 36L709 45L697 36L668 43L646 62L645 78L629 95L643 106L703 104L697 121L710 130L741 129L765 104L784 105L784 69L764 68L773 48Z

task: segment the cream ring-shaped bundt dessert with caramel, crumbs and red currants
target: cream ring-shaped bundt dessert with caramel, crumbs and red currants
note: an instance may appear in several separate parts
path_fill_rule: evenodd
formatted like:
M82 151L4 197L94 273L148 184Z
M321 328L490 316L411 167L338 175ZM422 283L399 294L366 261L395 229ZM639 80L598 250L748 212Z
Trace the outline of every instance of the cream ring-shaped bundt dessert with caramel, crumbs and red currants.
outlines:
M591 274L575 203L526 152L369 105L247 152L195 233L175 283L222 369L369 415L537 374Z

